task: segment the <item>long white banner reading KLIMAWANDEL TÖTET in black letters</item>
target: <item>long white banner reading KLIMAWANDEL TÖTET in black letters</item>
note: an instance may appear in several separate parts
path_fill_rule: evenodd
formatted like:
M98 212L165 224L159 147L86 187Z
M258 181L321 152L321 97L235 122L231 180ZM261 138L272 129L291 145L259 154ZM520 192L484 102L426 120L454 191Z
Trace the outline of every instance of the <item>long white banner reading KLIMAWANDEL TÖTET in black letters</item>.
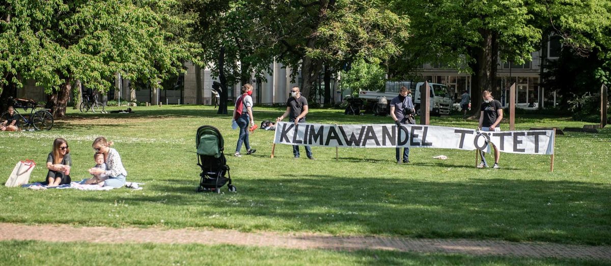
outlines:
M504 153L554 154L554 131L477 131L418 124L276 124L274 143L344 148L444 148Z

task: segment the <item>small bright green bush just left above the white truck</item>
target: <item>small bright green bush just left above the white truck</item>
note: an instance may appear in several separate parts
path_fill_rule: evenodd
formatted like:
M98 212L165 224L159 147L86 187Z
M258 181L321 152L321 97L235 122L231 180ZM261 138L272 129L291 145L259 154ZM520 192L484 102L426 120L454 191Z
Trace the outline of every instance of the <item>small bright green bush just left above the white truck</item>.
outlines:
M361 90L384 90L384 68L379 63L356 60L348 71L342 71L342 87L352 90L357 96Z

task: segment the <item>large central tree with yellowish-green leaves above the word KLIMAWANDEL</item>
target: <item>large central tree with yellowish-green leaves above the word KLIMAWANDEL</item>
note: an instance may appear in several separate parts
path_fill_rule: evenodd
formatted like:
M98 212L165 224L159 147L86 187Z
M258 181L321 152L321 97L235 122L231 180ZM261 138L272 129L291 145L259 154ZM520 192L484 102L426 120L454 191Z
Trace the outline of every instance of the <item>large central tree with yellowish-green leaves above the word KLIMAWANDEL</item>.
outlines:
M383 60L398 54L398 43L408 37L408 18L379 1L273 0L258 6L259 29L274 43L276 60L294 74L299 70L307 98L324 65L337 70L358 58Z

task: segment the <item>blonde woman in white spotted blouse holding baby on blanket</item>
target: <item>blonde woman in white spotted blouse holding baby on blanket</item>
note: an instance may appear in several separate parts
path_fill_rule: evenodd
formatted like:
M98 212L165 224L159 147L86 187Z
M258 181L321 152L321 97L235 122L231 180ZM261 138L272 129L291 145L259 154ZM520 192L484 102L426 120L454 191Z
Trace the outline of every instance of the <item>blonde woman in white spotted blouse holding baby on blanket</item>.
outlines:
M104 155L106 170L93 167L89 169L89 173L96 176L99 174L106 174L107 179L104 181L104 187L122 187L125 185L127 171L123 168L121 156L119 156L117 150L111 148L112 142L109 142L104 137L97 137L93 140L91 146L95 150L95 153Z

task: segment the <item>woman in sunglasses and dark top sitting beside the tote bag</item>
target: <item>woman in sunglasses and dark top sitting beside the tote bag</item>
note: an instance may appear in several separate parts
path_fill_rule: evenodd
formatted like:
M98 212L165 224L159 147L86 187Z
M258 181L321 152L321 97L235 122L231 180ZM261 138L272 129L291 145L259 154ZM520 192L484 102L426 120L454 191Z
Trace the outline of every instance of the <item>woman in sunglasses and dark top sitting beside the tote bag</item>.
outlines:
M70 148L64 138L56 138L53 142L53 151L46 158L46 168L49 173L46 174L46 184L48 187L57 187L58 185L70 184Z

